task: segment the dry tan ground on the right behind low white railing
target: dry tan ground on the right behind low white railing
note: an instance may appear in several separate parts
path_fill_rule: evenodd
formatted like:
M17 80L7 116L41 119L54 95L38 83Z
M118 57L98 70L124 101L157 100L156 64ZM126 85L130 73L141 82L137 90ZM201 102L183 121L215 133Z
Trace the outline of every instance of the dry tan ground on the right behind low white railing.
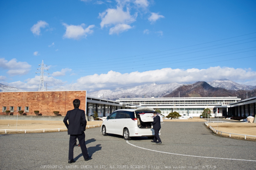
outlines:
M222 132L256 136L256 123L209 123L209 126ZM222 133L221 135L229 136L226 133ZM231 137L245 138L245 136L233 134L231 134ZM256 137L246 136L246 139L256 139Z

